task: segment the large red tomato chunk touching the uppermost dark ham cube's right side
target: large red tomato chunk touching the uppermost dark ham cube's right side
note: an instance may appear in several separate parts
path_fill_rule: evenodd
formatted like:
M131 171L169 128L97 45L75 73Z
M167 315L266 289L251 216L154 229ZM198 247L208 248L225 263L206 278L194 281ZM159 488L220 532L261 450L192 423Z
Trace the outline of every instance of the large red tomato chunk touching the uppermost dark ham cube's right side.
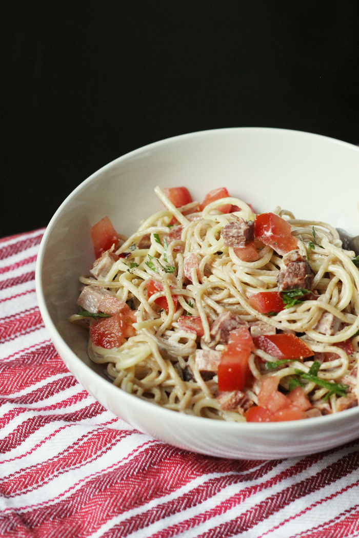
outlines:
M282 256L298 247L297 239L291 235L291 225L274 213L256 215L255 237Z

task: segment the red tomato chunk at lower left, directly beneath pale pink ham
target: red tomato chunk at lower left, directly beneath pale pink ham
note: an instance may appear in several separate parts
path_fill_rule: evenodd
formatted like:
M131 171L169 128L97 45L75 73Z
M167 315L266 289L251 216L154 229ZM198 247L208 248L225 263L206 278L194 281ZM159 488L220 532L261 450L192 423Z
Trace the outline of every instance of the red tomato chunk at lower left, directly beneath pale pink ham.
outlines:
M125 338L134 336L136 330L132 327L136 317L132 310L128 314L119 312L114 316L101 320L90 327L91 340L100 348L119 348Z

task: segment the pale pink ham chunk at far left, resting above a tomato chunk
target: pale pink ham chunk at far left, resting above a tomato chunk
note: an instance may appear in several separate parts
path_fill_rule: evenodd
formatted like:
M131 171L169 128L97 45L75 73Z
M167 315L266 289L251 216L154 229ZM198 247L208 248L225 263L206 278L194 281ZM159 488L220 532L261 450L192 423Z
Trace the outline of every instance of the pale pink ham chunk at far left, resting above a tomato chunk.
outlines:
M107 289L98 286L86 286L78 299L78 305L87 312L103 312L104 314L117 314L128 312L129 307L124 301L117 299Z

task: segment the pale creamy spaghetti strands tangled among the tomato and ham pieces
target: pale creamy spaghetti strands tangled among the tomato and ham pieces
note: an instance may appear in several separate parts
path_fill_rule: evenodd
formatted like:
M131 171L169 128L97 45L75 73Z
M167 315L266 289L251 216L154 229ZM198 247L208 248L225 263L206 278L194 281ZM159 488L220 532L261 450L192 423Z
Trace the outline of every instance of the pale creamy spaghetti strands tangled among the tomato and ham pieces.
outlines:
M353 263L355 253L342 249L337 231L324 222L298 220L290 211L274 210L291 226L295 251L310 264L313 285L311 294L307 292L292 306L286 304L275 313L259 312L252 298L259 292L278 292L278 273L286 268L283 254L256 242L257 259L245 261L222 234L240 217L247 223L254 221L252 209L235 197L215 200L202 211L196 210L196 202L177 208L159 187L155 191L166 209L146 218L131 237L121 236L116 253L109 251L113 256L106 274L80 278L85 287L110 292L132 310L132 332L121 345L108 349L90 339L91 360L106 364L114 384L138 398L211 419L244 421L248 407L258 406L258 398L261 401L264 381L273 377L283 395L292 390L291 380L297 380L311 404L312 414L308 411L306 416L357 405L359 272ZM224 203L234 211L222 213L218 208ZM278 355L254 346L248 360L251 375L240 391L242 405L232 408L221 400L219 374L212 371L206 376L198 365L199 350L222 353L227 349L212 328L228 312L251 332L262 322L267 334L295 335L312 351L304 359L278 364ZM323 314L335 320L336 330L320 330ZM193 323L198 320L202 336L182 323L183 316L189 324L190 317ZM70 319L83 322L89 317L75 314ZM91 327L101 323L95 313ZM314 374L313 364L317 365ZM318 379L342 384L342 392L333 393Z

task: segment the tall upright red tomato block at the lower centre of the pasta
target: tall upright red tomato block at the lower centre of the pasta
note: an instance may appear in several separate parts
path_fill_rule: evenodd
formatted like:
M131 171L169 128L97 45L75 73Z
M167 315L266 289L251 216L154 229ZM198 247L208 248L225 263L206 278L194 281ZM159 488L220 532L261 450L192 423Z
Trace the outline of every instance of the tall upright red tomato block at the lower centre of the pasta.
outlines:
M247 327L229 333L229 342L222 351L218 367L218 390L241 391L250 377L249 356L254 344Z

